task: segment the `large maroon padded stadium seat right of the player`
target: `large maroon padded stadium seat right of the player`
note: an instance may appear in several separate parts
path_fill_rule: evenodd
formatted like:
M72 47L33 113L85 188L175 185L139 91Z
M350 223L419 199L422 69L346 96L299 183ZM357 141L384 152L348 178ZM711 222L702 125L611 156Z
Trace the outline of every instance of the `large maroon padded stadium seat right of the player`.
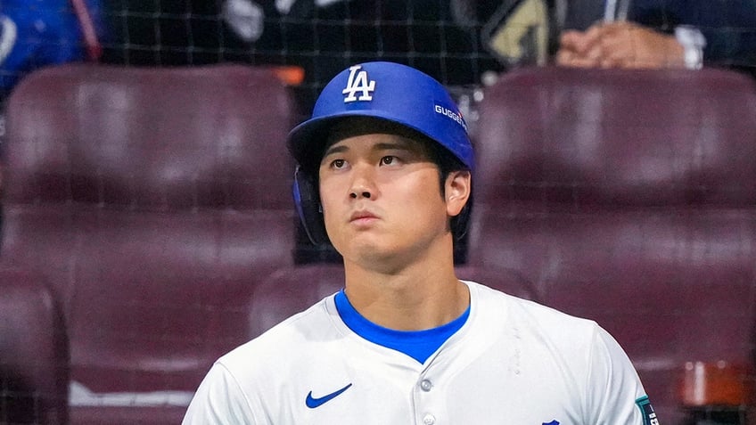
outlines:
M661 423L682 423L687 362L752 368L754 82L520 69L484 96L470 262L513 268L546 304L604 325Z

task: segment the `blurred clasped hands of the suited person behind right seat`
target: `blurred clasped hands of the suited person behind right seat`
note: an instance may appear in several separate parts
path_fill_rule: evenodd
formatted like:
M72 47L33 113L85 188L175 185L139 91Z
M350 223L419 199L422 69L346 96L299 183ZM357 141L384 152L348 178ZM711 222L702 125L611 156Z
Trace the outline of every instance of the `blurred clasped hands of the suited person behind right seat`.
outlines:
M556 63L580 68L684 68L684 49L674 36L630 22L565 31Z

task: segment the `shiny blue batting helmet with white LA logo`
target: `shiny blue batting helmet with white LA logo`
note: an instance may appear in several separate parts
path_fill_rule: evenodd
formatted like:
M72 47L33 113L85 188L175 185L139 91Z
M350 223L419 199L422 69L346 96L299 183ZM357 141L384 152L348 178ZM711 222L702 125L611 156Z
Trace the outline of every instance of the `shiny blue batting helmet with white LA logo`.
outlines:
M444 86L399 63L375 61L344 69L317 98L312 118L289 133L288 148L299 167L294 201L311 241L327 243L313 170L333 124L347 117L369 117L410 128L439 143L466 168L474 168L467 124Z

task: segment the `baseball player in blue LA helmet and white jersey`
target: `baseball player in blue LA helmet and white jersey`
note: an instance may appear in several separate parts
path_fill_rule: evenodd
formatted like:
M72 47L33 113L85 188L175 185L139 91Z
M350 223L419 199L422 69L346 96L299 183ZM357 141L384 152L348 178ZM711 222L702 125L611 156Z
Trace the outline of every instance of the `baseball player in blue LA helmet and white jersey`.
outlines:
M288 148L300 217L343 256L344 289L220 357L185 424L658 423L596 323L457 279L473 148L439 82L345 69Z

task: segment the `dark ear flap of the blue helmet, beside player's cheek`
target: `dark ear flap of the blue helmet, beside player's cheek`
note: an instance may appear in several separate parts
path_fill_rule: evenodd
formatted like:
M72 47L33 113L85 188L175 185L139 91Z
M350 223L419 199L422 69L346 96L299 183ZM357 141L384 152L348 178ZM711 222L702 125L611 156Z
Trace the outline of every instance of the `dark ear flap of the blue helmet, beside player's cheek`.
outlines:
M329 244L315 176L297 167L294 172L293 192L294 204L309 240L315 245Z

